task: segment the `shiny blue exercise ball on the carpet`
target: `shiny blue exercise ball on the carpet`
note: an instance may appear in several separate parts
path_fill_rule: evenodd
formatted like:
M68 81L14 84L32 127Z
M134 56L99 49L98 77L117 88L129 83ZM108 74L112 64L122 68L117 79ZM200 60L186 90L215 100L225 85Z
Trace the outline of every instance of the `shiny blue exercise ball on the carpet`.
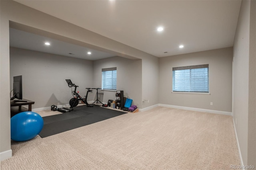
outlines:
M28 141L40 133L44 126L43 118L33 111L24 111L11 118L11 139Z

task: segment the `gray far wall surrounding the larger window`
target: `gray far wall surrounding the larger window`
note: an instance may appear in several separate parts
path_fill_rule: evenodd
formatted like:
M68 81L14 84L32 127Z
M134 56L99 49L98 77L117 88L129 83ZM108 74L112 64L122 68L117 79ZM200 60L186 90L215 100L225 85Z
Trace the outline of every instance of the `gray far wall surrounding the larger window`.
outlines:
M209 64L210 95L172 93L172 67L200 64ZM232 111L232 47L162 57L159 70L160 104Z

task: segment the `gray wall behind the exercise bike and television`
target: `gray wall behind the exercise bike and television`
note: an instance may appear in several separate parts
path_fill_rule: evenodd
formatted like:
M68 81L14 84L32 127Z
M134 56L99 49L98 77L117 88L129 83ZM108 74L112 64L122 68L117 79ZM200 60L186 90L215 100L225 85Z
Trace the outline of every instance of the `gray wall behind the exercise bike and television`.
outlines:
M65 79L84 96L85 88L92 87L92 61L11 47L10 89L13 76L19 75L23 98L35 102L32 109L65 105L73 97Z

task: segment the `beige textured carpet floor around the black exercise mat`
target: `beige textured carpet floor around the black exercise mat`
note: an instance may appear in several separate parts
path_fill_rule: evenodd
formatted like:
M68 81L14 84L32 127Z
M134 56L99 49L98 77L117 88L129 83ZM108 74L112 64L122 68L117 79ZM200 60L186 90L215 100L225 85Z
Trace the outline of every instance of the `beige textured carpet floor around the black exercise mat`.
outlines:
M11 148L13 156L1 162L1 170L216 170L240 165L231 116L166 107L12 141Z

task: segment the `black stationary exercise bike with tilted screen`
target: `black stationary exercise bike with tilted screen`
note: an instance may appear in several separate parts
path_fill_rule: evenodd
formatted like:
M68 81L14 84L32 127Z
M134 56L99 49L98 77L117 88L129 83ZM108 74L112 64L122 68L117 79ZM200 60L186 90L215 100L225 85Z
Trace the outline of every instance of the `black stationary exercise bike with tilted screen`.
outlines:
M92 90L90 90L91 88L86 88L86 89L87 89L86 96L84 96L84 98L82 98L82 97L78 94L78 92L76 92L76 88L77 88L78 86L76 86L75 84L73 84L70 79L67 79L66 82L68 83L68 87L70 87L70 88L71 88L71 87L75 87L75 90L72 91L72 94L73 94L74 98L70 99L70 101L69 101L70 109L73 109L73 107L76 107L76 106L78 105L79 101L81 101L82 103L86 104L86 106L88 106L88 107L93 107L93 105L90 105L90 104L87 103L87 96L88 96L88 93L89 93L89 92L92 92Z

